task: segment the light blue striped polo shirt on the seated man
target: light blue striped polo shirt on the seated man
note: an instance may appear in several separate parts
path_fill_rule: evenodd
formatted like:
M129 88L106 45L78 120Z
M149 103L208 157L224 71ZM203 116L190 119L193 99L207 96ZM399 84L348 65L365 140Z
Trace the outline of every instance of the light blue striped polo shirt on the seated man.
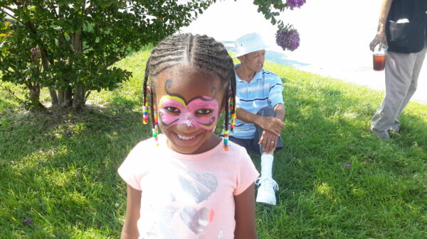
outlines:
M236 65L234 69L240 67ZM251 82L240 79L236 74L236 105L251 113L257 113L265 106L283 104L282 79L269 70L257 72ZM255 135L253 123L246 123L236 119L236 126L230 135L236 138L251 139Z

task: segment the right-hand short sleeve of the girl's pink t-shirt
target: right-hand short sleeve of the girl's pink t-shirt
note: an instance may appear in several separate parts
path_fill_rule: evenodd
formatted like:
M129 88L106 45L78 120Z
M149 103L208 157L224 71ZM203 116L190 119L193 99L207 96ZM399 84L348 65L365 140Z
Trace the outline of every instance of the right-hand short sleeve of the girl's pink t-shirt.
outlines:
M251 157L249 157L244 148L241 149L241 154L238 159L236 176L237 186L233 192L234 196L241 194L243 191L248 189L248 187L251 186L259 176L258 171L255 169L255 165L253 165Z

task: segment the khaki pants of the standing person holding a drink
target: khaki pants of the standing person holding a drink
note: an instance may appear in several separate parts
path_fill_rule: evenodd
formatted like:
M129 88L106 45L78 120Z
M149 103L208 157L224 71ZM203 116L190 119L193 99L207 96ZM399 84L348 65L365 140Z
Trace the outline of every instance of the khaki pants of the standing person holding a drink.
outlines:
M397 117L416 91L418 75L426 57L427 42L421 52L388 52L386 57L386 96L374 114L371 130L399 130ZM426 80L426 79L423 79Z

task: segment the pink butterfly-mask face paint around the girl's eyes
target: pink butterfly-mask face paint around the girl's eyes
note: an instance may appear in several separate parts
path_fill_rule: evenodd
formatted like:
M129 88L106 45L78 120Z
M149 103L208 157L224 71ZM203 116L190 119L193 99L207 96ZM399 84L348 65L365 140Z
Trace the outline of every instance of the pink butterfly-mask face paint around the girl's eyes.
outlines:
M184 123L189 127L212 130L218 119L218 101L198 96L186 103L181 97L165 95L159 102L159 116L164 126Z

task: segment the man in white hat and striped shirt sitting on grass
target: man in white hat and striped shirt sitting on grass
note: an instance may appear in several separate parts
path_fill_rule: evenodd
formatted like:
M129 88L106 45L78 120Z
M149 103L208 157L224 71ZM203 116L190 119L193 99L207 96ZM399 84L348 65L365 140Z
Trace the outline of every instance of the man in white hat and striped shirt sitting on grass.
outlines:
M236 126L230 140L260 153L261 176L257 180L256 201L276 204L278 184L272 176L273 154L283 148L280 132L283 129L285 106L280 77L263 69L265 60L263 39L250 33L236 40Z

